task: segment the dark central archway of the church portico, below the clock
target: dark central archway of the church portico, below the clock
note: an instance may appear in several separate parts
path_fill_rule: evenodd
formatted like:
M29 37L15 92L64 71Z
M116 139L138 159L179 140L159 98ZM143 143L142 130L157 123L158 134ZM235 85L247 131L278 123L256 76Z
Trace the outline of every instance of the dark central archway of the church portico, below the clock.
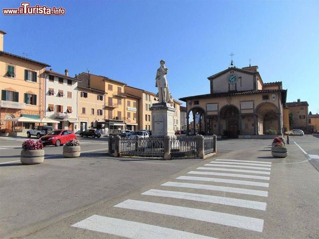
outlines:
M232 138L238 137L241 131L240 111L234 105L227 105L220 109L217 119L218 134Z

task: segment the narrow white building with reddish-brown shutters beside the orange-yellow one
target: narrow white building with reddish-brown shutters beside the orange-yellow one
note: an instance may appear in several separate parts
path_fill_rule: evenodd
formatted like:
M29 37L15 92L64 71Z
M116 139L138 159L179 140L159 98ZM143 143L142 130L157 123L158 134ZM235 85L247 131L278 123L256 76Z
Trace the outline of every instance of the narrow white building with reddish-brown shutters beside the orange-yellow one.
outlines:
M70 77L68 70L60 74L45 70L45 114L46 119L60 123L48 123L54 129L79 130L78 121L78 79Z

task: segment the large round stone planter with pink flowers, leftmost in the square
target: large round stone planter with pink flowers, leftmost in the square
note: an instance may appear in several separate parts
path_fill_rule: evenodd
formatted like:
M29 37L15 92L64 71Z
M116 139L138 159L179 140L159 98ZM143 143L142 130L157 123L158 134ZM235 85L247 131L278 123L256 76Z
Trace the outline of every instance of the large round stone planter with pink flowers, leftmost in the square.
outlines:
M23 164L38 164L44 161L44 146L38 141L32 139L25 140L22 143L20 161Z

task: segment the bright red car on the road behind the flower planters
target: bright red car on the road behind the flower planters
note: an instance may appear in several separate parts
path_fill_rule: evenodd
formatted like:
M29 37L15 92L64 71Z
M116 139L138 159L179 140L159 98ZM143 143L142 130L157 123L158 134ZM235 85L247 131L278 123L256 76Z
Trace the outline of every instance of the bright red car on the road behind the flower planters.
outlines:
M60 146L72 139L77 139L73 131L58 129L58 130L53 130L49 132L47 135L42 136L40 138L40 142L42 142L44 146L47 146L47 145Z

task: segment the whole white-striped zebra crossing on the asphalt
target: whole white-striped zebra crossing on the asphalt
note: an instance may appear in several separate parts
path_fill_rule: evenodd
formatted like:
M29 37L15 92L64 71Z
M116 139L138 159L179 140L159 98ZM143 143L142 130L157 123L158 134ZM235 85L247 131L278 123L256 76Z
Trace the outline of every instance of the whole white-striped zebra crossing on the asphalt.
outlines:
M199 225L208 223L211 227L218 225L224 230L262 233L271 167L271 162L216 159L162 183L159 188L142 192L141 198L129 198L114 205L113 210L121 210L116 216L93 215L72 227L130 239L217 239L217 235L212 235L215 231L200 235L191 230L185 232L152 225L151 219L146 220L148 223L139 222L143 221L139 217L152 215L188 222L193 220ZM197 207L200 203L210 206L204 209ZM236 208L240 210L236 211ZM251 210L260 213L252 213ZM138 216L128 220L127 216L132 212Z

